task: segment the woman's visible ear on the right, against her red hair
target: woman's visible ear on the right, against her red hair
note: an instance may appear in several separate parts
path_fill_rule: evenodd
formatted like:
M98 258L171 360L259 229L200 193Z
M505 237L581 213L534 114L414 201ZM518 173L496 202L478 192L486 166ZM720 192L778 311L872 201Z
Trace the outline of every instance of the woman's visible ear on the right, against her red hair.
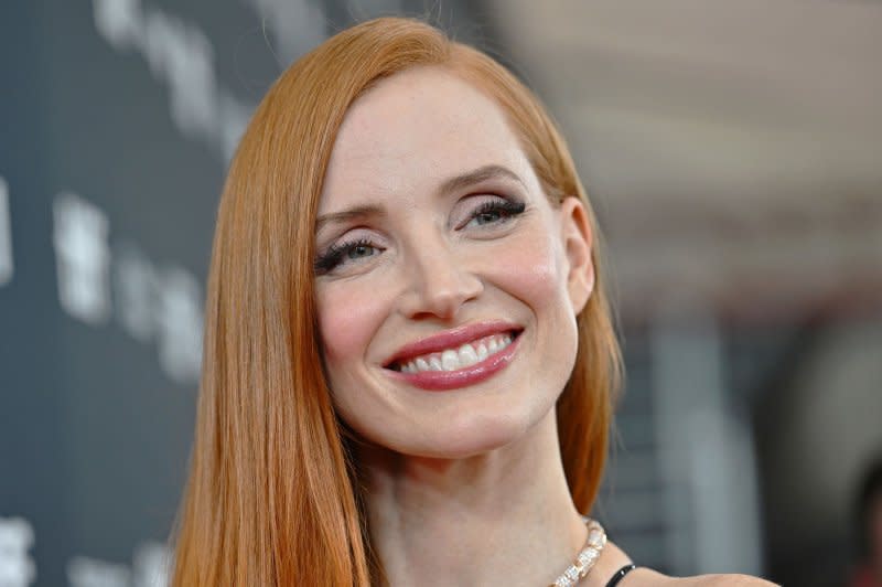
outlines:
M591 223L579 198L568 196L560 204L561 238L567 255L567 290L576 314L582 311L594 290L594 263L591 260Z

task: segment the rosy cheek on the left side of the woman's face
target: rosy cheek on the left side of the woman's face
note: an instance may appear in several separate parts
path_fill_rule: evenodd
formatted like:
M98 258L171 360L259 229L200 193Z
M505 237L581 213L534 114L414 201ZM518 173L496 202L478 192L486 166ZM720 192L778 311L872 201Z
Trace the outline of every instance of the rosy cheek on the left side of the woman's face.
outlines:
M336 367L366 355L374 332L383 321L383 297L352 282L327 284L316 288L319 332L322 352L332 380Z

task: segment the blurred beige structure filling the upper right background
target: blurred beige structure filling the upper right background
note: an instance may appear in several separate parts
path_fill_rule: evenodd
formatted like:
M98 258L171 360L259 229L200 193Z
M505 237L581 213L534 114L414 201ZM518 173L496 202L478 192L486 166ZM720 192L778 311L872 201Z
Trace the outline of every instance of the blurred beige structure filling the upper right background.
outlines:
M623 316L882 296L882 3L495 0L611 241Z

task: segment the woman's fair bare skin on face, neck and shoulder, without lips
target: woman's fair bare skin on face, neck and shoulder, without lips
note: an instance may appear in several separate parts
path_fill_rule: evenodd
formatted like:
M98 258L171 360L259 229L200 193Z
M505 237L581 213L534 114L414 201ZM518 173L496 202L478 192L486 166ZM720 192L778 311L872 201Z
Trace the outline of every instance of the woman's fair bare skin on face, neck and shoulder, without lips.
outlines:
M484 166L514 178L441 190ZM524 212L476 214L499 198ZM359 206L375 210L322 220ZM582 204L550 204L502 110L422 67L379 83L347 113L319 217L320 256L345 250L316 276L325 369L337 410L363 439L356 458L389 584L548 585L587 537L555 415L594 284ZM488 380L427 392L384 366L406 343L483 320L523 330L512 363ZM602 586L627 562L609 544L583 584ZM639 569L621 585L668 580Z

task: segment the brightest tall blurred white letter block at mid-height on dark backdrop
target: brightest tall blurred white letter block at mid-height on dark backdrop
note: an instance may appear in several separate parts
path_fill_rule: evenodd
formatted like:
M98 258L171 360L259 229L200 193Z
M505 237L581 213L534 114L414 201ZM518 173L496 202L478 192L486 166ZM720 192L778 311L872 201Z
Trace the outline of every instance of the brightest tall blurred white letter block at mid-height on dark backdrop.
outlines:
M55 198L53 216L62 308L84 322L101 323L110 314L107 216L73 193Z

